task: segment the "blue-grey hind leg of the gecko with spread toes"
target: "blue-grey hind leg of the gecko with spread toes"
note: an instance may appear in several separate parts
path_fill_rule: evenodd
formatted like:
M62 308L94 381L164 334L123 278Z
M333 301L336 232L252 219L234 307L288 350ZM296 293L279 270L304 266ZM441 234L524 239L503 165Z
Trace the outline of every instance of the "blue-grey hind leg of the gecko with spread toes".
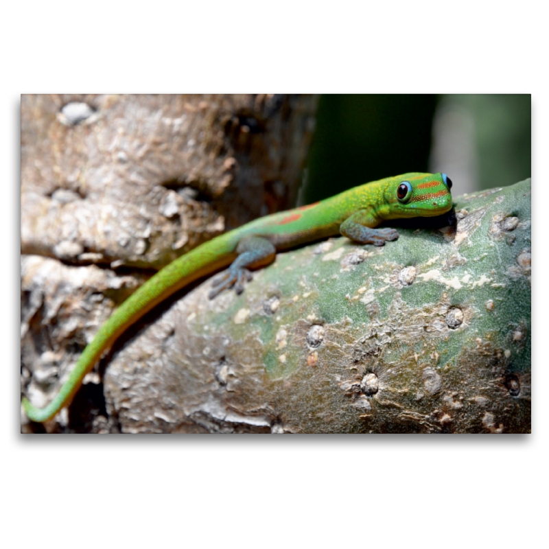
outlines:
M244 291L244 283L253 277L249 268L259 268L274 261L277 248L263 237L247 236L242 238L236 248L238 257L231 266L218 277L213 279L212 289L208 294L209 299L218 296L223 290L235 288L237 294Z

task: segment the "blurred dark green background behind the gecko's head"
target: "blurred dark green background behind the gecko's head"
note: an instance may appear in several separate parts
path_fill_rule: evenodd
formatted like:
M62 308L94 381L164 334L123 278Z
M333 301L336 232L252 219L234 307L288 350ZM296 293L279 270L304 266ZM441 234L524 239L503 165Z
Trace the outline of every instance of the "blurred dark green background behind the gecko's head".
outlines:
M404 172L454 196L530 177L530 95L322 95L301 204Z

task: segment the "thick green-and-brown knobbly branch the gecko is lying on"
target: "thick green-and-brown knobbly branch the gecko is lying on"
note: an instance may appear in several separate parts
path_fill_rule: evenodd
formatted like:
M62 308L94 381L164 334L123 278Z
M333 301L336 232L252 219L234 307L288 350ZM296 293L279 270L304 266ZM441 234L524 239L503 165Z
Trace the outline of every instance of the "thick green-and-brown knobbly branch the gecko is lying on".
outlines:
M383 248L279 254L241 296L208 301L205 282L110 362L110 417L125 432L530 432L530 180L454 204L454 224L408 224Z

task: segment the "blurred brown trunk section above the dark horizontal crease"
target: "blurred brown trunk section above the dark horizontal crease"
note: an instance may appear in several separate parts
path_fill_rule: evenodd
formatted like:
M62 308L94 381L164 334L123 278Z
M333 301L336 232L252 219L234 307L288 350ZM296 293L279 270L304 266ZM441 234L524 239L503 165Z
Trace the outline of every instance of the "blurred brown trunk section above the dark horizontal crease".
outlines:
M316 97L22 95L21 253L160 267L294 203Z

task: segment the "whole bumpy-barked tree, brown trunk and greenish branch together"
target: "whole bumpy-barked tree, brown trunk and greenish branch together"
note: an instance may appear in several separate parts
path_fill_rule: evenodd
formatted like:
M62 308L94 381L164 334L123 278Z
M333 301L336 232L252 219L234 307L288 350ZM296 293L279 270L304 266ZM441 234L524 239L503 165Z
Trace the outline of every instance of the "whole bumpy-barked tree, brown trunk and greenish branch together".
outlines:
M290 205L314 101L22 97L34 404L147 279L137 267ZM530 432L530 180L454 205L453 222L401 224L383 248L334 238L279 254L240 296L209 301L210 281L180 292L121 337L69 410L22 430Z

